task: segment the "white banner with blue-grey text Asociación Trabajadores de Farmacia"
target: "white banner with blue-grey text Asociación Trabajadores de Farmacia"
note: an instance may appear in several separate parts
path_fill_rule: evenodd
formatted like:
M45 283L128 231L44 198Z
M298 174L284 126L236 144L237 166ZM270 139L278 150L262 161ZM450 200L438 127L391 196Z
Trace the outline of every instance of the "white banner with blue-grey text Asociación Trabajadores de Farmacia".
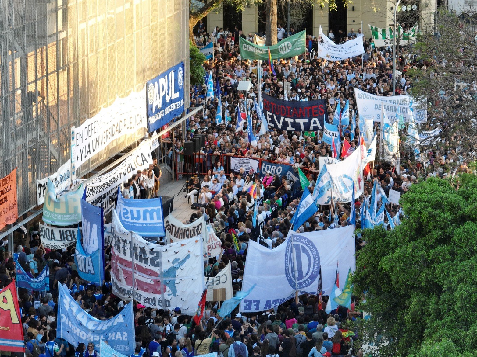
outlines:
M359 115L363 119L381 122L381 107L384 106L392 123L399 120L399 115L403 116L405 122L413 117L417 123L427 121L427 109L418 108L416 101L410 96L381 97L357 88L354 88L354 96Z

